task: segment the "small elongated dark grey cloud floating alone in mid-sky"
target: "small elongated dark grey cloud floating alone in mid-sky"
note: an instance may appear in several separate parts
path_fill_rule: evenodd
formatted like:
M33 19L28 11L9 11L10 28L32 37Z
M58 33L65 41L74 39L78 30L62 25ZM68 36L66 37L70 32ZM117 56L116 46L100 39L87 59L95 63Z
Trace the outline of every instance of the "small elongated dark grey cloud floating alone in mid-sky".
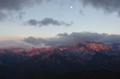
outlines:
M30 19L27 22L25 22L25 25L32 25L32 26L48 26L48 25L55 25L55 26L71 26L73 24L73 22L71 23L66 23L64 21L57 21L54 20L53 18L44 18L41 21L37 21L35 19Z

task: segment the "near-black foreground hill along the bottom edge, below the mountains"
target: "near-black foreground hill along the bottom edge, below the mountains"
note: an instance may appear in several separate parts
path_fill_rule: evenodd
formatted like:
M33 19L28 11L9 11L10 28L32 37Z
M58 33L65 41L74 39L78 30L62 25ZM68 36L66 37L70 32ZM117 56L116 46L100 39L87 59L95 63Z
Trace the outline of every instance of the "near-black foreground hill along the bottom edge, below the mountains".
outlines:
M108 70L69 72L65 74L30 73L25 79L120 79L120 73Z

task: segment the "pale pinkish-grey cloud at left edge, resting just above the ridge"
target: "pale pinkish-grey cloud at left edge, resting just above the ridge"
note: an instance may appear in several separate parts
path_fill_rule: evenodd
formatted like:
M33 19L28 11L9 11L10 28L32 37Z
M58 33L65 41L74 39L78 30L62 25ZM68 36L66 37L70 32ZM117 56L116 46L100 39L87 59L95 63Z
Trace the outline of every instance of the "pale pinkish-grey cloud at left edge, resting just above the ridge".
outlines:
M0 49L15 49L15 48L30 48L30 46L13 40L0 40Z

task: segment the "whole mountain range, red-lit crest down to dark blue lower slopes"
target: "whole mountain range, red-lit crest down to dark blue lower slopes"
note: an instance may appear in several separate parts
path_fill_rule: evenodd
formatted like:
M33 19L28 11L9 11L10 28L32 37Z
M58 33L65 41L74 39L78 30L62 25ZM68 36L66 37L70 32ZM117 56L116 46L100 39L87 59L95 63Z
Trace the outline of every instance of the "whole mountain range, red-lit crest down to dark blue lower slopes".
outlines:
M34 73L108 69L120 72L120 44L82 42L30 49L0 49L0 74L24 78ZM6 73L7 72L7 73Z

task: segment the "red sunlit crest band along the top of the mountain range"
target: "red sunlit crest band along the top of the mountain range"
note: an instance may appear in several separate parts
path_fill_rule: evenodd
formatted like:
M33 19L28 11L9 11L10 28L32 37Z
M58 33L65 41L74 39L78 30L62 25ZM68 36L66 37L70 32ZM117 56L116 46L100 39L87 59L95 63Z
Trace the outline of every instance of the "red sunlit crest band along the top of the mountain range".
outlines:
M8 54L8 52L12 52L12 54L20 54L22 56L34 56L39 55L41 53L50 53L55 50L92 50L92 51L105 51L105 50L120 50L120 44L112 44L105 45L104 43L97 42L82 42L74 45L61 45L61 46L51 46L51 47L42 47L35 48L32 47L30 49L0 49L0 54ZM34 52L34 54L32 53Z

